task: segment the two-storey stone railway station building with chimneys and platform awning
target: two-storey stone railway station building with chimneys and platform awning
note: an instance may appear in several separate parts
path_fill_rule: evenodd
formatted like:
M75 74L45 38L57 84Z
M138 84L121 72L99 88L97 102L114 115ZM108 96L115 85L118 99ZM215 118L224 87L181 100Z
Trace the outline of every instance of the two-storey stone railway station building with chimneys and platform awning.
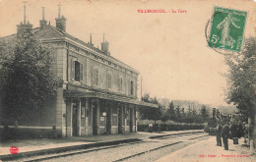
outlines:
M84 42L67 33L66 22L59 13L53 27L43 16L39 27L32 28L24 21L17 26L17 33L1 38L12 41L21 32L31 30L51 47L53 73L63 80L56 96L47 101L47 111L40 118L21 116L17 119L18 128L38 134L47 134L54 128L63 137L136 132L138 109L158 108L138 100L139 72L112 57L104 39L99 49L94 46L92 35L89 42ZM1 95L0 107L0 118L11 118L2 111L6 106Z

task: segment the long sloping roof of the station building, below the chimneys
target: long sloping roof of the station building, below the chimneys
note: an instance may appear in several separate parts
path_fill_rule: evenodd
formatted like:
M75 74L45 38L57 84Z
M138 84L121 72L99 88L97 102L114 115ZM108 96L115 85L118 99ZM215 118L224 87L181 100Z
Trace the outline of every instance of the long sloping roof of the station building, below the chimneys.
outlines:
M86 43L85 41L75 37L75 36L72 36L71 34L57 28L57 27L53 27L51 25L46 25L42 28L40 27L35 27L35 28L32 28L32 33L34 33L34 35L38 38L38 39L52 39L52 38L55 38L55 39L63 39L63 38L69 38L79 44L82 44L84 46L86 46L87 48L90 48L91 50L101 54L102 56L104 57L107 57L109 58L110 60L114 60L116 62L118 62L121 66L125 66L125 67L128 67L130 70L134 71L135 73L139 74L139 72L137 70L135 70L134 68L128 66L127 64L117 60L116 58L110 56L110 55L107 55L105 54L102 50L94 47L93 45L89 44L89 43ZM13 40L16 39L16 33L15 34L12 34L12 35L8 35L8 36L4 36L4 37L0 37L0 39L3 39L4 41L7 41L7 42L12 42Z

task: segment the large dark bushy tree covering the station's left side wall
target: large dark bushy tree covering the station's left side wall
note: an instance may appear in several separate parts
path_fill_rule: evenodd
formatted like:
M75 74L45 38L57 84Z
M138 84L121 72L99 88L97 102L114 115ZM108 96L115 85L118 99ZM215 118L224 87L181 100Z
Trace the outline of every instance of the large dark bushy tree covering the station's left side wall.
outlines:
M0 45L1 90L6 105L4 111L15 119L30 112L43 113L45 101L53 96L60 80L52 74L50 49L32 32L23 32L14 42Z

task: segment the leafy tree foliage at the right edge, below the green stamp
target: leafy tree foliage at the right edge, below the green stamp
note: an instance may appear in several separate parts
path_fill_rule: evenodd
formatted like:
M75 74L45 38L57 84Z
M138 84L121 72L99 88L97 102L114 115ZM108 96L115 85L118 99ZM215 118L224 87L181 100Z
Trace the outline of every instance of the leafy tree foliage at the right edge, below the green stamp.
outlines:
M225 57L228 73L226 102L233 103L245 117L253 117L256 85L256 39L245 39L243 50Z

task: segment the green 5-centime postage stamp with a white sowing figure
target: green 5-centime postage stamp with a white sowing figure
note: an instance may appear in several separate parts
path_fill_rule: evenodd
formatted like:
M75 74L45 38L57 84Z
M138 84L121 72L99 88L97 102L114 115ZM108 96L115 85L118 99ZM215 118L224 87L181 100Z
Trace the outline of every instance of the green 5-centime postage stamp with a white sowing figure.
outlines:
M209 46L241 51L247 12L215 7Z

